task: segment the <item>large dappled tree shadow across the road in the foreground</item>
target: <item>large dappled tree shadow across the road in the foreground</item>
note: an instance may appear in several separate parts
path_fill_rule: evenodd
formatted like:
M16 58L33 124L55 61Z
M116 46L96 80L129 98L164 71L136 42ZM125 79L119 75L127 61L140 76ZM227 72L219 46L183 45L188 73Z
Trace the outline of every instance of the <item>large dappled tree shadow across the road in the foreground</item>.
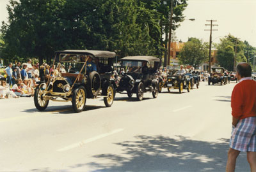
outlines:
M83 166L91 171L104 172L158 172L158 171L225 171L228 139L220 142L189 140L183 136L177 139L166 136L136 136L135 141L113 143L122 149L121 155L94 155L94 162L79 163L57 171L83 171ZM106 162L109 163L100 163ZM31 171L49 170L31 169ZM250 171L246 154L239 155L237 171ZM49 170L55 171L55 170Z

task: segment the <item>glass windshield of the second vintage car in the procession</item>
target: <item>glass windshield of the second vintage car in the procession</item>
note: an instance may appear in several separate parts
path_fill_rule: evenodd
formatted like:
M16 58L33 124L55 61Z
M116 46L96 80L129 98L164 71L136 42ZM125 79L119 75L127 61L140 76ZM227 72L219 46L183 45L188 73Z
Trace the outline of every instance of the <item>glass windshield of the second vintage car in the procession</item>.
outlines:
M141 61L122 61L121 71L124 73L141 73Z

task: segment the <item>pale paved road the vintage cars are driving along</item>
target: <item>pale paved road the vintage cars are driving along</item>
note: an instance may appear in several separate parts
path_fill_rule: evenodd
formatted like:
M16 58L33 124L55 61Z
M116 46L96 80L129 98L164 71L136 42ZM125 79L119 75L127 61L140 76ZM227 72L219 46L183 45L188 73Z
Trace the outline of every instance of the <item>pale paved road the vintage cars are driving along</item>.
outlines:
M33 98L0 100L0 171L225 171L236 83L183 94L167 89L137 102L116 94L111 108L88 99L38 112ZM249 171L241 154L237 171Z

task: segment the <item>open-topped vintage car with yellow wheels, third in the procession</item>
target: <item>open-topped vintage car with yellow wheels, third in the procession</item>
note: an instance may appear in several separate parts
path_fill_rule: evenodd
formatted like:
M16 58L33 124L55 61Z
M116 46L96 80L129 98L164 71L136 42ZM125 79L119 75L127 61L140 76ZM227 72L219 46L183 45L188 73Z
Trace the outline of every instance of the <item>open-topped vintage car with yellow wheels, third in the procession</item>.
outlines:
M189 75L179 75L177 71L177 69L170 69L166 79L159 80L159 92L163 88L167 88L168 92L171 92L171 89L179 89L179 93L182 93L183 89L190 91L193 78Z

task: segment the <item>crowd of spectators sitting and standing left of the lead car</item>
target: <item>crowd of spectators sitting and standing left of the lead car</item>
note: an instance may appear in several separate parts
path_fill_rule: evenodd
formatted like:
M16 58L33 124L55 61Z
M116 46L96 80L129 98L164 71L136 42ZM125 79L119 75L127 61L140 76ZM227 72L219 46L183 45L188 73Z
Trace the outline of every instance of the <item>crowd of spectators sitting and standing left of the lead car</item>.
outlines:
M26 63L12 62L4 69L5 75L0 75L0 99L34 96L38 82L44 82L51 75L51 68L46 63L31 64L31 59Z

